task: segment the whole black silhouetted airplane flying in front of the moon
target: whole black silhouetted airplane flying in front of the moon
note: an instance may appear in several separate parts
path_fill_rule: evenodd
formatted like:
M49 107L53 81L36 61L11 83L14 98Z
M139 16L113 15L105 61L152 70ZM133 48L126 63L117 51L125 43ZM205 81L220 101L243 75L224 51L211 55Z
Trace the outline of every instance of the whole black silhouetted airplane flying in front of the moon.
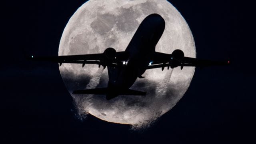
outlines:
M165 28L165 21L159 14L150 14L140 24L125 51L116 52L114 48L106 48L100 54L82 54L53 57L34 57L33 60L45 60L62 63L98 64L108 70L108 86L86 90L74 90L73 94L106 95L111 100L119 95L146 95L146 92L131 90L137 78L144 78L142 74L152 68L176 68L184 66L214 66L228 65L230 61L199 60L185 57L182 50L176 49L172 54L156 52L155 47Z

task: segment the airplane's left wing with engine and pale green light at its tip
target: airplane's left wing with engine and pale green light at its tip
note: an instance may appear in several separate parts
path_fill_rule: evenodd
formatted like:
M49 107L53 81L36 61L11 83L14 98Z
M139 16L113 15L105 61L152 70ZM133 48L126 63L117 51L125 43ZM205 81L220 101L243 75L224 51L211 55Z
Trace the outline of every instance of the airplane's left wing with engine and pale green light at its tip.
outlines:
M107 48L101 54L82 54L82 55L69 55L69 56L48 56L48 57L35 57L31 56L31 60L58 62L61 66L62 63L82 64L98 64L99 66L112 66L116 67L122 65L122 62L128 59L126 52L116 52L114 48Z

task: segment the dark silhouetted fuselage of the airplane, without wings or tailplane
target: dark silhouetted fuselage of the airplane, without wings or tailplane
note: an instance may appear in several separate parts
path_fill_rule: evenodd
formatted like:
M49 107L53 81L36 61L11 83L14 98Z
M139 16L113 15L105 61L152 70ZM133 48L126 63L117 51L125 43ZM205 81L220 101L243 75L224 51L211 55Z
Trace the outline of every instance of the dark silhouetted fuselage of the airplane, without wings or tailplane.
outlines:
M123 62L122 67L108 67L109 82L111 90L107 99L118 96L118 93L129 89L137 79L146 71L146 66L155 52L155 47L164 32L164 19L158 14L147 16L135 32L125 52L128 59Z

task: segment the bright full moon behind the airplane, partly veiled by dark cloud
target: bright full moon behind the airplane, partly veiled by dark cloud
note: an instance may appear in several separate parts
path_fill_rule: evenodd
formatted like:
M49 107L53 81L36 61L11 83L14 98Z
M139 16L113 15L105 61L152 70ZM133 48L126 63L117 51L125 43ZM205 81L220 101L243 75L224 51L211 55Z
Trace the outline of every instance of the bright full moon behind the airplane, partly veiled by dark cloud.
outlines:
M156 45L157 52L171 54L180 49L196 57L194 38L180 12L166 0L89 0L68 21L59 46L59 55L102 53L108 47L124 51L146 16L160 14L166 23ZM131 89L146 96L78 95L73 90L107 87L108 72L95 64L62 64L60 74L74 98L78 114L91 114L108 122L149 126L182 98L194 75L194 67L146 70Z

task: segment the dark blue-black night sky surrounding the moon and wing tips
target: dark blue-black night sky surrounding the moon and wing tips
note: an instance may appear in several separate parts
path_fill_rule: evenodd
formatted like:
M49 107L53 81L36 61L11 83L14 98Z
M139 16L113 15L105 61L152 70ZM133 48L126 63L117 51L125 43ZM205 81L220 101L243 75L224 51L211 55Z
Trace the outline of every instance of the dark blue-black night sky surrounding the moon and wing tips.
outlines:
M188 22L198 58L231 60L196 68L183 98L151 127L131 130L88 115L79 120L57 56L69 18L86 0L1 2L1 141L4 143L255 143L254 5L234 0L169 0Z

